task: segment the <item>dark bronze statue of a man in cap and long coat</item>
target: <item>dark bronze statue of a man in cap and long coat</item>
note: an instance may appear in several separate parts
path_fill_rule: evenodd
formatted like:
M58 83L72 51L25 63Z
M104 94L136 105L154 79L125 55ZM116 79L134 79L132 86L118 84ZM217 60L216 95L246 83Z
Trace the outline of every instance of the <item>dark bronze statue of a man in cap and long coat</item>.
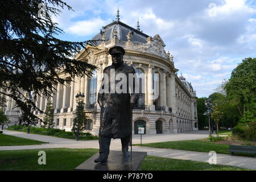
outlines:
M122 154L125 158L129 158L129 142L131 133L131 118L132 118L132 105L138 100L138 93L134 92L135 83L133 83L133 90L131 94L129 89L129 73L135 74L133 67L125 64L123 62L123 55L125 50L122 47L112 47L109 49L110 55L112 55L112 65L104 69L104 73L108 75L109 92L106 93L105 90L102 93L98 93L98 104L101 107L101 117L100 117L100 131L99 131L99 144L100 144L100 156L94 160L94 162L104 163L108 160L109 156L109 146L110 140L112 138L121 138L122 143ZM126 76L126 92L117 93L111 92L111 88L114 88L120 80L114 79L111 83L111 75L122 75ZM112 75L113 76L113 75ZM104 77L105 78L105 77ZM106 84L106 80L102 79L102 86ZM106 79L106 78L105 78ZM124 79L125 80L125 79ZM136 79L135 79L136 81ZM133 81L134 82L134 81Z

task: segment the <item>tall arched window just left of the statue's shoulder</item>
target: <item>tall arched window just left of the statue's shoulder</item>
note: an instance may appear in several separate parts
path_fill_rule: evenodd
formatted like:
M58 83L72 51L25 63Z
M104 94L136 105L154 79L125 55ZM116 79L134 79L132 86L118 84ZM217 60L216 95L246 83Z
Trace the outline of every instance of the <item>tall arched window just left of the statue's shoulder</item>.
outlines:
M87 109L93 109L97 102L97 72L94 70L88 80L88 105Z

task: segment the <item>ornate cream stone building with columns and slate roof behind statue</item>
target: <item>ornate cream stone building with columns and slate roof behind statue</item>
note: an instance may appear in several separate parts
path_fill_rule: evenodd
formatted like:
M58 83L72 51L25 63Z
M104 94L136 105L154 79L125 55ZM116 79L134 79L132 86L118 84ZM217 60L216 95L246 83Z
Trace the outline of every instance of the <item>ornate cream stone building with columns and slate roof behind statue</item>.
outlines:
M71 84L56 85L51 102L55 109L55 127L70 131L75 117L77 93L84 93L86 116L89 118L85 132L98 134L100 127L100 106L97 104L97 94L100 89L102 74L105 67L112 64L109 48L121 46L126 53L123 61L134 67L139 77L140 90L145 92L139 96L138 104L133 110L133 133L138 134L138 125L146 126L146 134L180 133L198 130L196 92L192 85L181 75L174 66L174 57L164 50L164 42L159 35L154 37L144 34L139 29L128 26L117 19L102 27L100 33L92 40L101 40L97 46L87 46L75 56L76 60L87 61L99 69L93 71L92 77L70 77L59 73L60 77L69 78ZM155 85L155 73L159 82ZM150 76L152 75L152 76ZM149 90L159 88L159 97L152 100ZM47 98L37 97L36 106L46 109ZM7 102L6 114L13 123L17 121L19 111L12 110L13 102ZM43 113L36 111L39 118ZM40 123L38 124L40 125Z

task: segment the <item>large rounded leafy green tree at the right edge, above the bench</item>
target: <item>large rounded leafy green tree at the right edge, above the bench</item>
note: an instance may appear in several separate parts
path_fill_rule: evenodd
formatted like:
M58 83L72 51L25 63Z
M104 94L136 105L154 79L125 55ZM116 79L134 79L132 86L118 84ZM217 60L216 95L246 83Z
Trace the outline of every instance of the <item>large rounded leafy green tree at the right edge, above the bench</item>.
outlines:
M245 116L246 111L256 117L256 58L246 58L233 69L225 90L241 117Z

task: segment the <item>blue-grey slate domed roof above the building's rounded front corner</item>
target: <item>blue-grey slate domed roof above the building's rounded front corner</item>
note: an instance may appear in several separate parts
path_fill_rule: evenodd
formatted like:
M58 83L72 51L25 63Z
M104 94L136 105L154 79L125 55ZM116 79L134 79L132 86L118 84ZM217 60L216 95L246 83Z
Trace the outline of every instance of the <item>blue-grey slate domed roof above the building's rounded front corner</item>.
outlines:
M102 27L101 31L96 34L92 40L101 40L102 35L105 34L105 42L113 38L113 32L117 30L117 38L122 41L127 41L127 34L131 32L131 42L147 43L146 39L149 37L144 34L142 31L139 31L133 27L128 26L125 23L120 22L119 20L113 21L112 23ZM101 41L98 41L97 44L101 44Z

